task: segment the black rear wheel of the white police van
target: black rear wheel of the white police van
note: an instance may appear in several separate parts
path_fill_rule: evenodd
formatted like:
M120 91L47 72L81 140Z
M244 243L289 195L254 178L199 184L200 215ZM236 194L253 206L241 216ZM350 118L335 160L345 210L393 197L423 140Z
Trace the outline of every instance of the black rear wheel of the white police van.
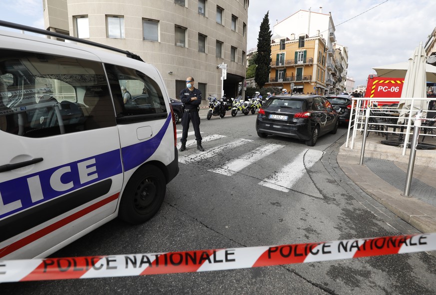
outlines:
M165 192L166 180L159 168L152 165L139 168L122 194L119 218L132 224L149 220L159 211Z

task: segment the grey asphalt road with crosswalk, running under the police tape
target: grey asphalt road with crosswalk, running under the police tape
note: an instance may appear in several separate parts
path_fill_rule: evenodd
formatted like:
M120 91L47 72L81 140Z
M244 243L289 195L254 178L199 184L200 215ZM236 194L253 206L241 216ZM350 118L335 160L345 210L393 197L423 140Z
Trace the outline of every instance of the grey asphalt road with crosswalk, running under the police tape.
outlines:
M309 148L297 140L259 138L255 117L201 120L206 152L197 151L195 144L179 152L179 175L167 185L165 202L152 220L138 226L114 220L52 257L323 242L414 230L401 219L396 223L401 226L393 227L374 215L363 205L364 193L341 173L336 154L345 128ZM229 171L235 163L239 170ZM436 294L436 258L416 253L232 271L7 283L0 285L0 294Z

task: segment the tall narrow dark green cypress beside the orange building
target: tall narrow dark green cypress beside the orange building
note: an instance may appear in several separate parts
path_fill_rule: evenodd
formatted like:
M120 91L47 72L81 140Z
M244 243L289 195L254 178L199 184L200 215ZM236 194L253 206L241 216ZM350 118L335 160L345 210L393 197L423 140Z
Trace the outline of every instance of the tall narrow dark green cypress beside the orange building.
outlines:
M268 18L269 11L265 14L262 23L260 24L259 37L257 38L257 56L255 63L256 81L259 88L262 88L269 81L271 72L271 30L270 20Z

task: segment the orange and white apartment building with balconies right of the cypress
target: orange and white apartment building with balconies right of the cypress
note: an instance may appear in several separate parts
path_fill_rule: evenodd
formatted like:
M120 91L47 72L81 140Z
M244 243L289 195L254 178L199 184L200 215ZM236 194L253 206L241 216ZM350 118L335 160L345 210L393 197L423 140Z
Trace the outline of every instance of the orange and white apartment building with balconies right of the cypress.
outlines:
M346 58L346 47L341 46L337 55L335 43L332 15L323 13L322 7L319 12L299 10L276 23L268 85L290 90L293 83L294 92L317 94L345 89L341 83L342 72L348 68L348 49Z

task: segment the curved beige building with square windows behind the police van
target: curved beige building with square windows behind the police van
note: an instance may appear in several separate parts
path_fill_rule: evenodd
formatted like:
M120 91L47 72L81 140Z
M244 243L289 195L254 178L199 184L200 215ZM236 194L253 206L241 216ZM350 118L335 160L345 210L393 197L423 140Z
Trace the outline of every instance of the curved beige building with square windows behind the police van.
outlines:
M222 87L236 97L244 85L249 0L42 1L46 29L139 55L160 71L172 98L187 76L204 98Z

